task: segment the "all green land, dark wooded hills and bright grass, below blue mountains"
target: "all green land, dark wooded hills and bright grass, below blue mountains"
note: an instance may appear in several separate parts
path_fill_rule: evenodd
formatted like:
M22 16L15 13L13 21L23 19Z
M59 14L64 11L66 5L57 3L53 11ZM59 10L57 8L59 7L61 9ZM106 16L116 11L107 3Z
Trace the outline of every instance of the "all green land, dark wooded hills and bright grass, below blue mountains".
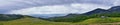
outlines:
M92 15L70 14L48 19L27 15L0 15L0 25L120 25L119 22L118 12Z

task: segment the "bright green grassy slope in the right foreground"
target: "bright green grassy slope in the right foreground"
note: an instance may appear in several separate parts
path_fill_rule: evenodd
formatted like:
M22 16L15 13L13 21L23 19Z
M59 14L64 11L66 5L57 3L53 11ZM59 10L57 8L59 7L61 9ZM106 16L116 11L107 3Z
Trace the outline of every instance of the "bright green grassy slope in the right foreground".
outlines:
M116 23L118 22L118 23ZM120 17L109 17L109 18L91 18L82 22L78 22L77 24L95 24L95 25L112 25L112 24L120 24Z

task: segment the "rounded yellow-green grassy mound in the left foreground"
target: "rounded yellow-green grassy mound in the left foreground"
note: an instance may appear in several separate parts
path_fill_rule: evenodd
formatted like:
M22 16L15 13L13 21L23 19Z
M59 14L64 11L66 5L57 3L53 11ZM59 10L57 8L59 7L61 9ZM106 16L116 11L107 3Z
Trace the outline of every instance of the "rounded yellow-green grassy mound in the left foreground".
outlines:
M22 18L13 21L7 21L1 25L70 25L70 23L63 22L49 22L37 18Z

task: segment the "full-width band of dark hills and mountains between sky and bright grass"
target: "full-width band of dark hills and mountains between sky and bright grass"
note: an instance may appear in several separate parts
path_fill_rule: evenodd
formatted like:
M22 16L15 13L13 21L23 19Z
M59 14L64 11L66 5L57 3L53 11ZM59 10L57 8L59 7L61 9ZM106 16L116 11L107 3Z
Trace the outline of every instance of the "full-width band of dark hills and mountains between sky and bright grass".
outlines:
M113 13L113 12L117 12L117 13ZM63 14L61 15L53 14L53 16L56 16L56 15L59 15L59 16L51 17L51 18L41 18L42 17L41 16L40 19L54 21L54 22L79 22L79 21L84 21L86 19L90 19L90 18L96 18L96 17L98 18L98 17L101 17L102 15L109 16L109 17L120 17L119 12L120 12L120 6L114 6L108 10L98 8L84 14L68 14L66 16L63 16ZM107 13L107 14L101 14L101 13ZM97 15L94 15L94 14L97 14ZM36 14L36 17L37 15L39 14ZM0 14L0 21L16 20L24 17L34 18L35 16L33 17L28 15Z

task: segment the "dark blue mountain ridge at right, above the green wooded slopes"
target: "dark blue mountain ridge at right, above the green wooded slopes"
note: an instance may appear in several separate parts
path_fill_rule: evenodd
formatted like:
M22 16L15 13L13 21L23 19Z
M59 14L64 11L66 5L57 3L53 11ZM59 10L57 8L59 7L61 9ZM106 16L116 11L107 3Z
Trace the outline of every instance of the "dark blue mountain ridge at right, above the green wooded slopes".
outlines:
M93 11L84 13L84 15L99 14L99 13L112 13L112 12L120 12L120 6L111 7L108 10L97 8L97 9L95 9Z

